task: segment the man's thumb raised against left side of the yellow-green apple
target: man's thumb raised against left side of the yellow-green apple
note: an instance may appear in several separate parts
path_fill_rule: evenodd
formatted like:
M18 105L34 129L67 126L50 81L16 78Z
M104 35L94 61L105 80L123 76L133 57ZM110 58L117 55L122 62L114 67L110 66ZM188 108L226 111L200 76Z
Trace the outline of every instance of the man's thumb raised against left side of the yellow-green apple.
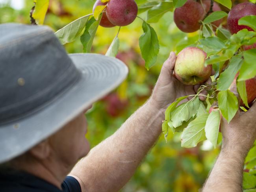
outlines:
M170 80L173 76L173 68L176 61L176 54L174 52L171 52L168 59L163 63L163 66L161 68L159 80L160 81L166 81Z

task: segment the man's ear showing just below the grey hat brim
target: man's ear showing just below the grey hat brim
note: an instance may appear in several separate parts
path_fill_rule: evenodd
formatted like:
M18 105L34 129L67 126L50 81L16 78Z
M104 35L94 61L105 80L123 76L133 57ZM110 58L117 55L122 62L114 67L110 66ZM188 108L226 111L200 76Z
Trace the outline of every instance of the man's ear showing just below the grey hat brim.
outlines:
M50 144L48 139L41 141L39 144L31 148L29 153L36 159L46 159L50 155Z

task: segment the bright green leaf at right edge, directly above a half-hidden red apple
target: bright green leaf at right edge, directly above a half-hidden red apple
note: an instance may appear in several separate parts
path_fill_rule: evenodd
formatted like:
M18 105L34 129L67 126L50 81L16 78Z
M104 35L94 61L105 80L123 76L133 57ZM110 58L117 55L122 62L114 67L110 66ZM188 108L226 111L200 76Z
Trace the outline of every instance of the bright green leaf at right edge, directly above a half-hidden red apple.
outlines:
M254 78L256 76L256 49L243 52L245 61L241 66L238 81Z

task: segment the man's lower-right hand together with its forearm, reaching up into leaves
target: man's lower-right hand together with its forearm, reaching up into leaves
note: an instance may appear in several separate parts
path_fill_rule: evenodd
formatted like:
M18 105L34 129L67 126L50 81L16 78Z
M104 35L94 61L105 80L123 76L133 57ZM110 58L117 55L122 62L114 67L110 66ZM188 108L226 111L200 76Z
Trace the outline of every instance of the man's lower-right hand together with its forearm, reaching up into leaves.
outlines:
M237 111L228 124L221 121L223 135L221 153L207 179L203 192L241 192L243 166L256 139L256 103L247 112Z

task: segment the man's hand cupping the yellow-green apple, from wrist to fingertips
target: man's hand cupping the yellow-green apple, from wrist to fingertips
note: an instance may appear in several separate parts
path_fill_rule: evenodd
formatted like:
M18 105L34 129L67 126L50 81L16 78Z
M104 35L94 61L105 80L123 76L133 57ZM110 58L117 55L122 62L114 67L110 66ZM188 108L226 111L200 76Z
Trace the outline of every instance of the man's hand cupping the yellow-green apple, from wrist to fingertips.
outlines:
M173 68L176 60L176 55L171 52L169 58L163 63L160 76L152 92L150 102L153 103L159 110L165 111L165 109L181 96L187 96L196 94L200 85L185 85L178 81L173 74ZM208 79L206 83L211 83L211 79ZM206 95L206 90L203 90L201 94ZM206 97L199 96L200 100L205 100ZM183 100L186 102L188 99ZM181 102L181 103L182 103Z

